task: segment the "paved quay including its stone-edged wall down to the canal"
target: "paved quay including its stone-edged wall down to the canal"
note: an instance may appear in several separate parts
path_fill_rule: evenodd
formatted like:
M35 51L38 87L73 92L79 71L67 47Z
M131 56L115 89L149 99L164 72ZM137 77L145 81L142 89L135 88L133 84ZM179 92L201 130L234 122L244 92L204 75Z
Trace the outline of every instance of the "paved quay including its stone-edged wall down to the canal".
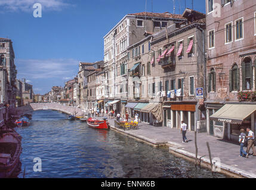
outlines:
M195 143L193 142L193 132L187 132L189 143L178 143L182 141L180 129L171 129L166 127L155 127L147 124L139 124L138 130L123 130L115 127L113 119L109 119L110 129L127 135L135 140L150 144L153 147L166 146L169 148L169 153L177 157L196 163ZM203 138L205 136L205 138ZM172 141L170 141L172 140ZM256 170L251 166L256 163L255 157L239 157L239 145L230 144L216 137L211 137L203 134L198 134L198 166L207 167L211 170L211 162L208 157L208 148L206 141L211 146L212 158L220 159L217 167L217 172L232 178L256 178ZM226 152L224 151L226 150ZM222 154L222 155L221 155ZM200 163L200 166L199 166ZM242 164L241 164L242 163ZM215 164L215 163L214 163ZM216 164L217 165L217 164ZM215 168L216 168L215 167Z

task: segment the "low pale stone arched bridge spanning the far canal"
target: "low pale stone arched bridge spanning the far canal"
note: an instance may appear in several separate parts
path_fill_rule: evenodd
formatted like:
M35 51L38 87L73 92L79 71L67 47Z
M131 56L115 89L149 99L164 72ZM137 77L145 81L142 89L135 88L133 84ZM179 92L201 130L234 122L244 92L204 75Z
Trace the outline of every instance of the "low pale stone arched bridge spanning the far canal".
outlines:
M84 112L78 108L73 106L65 106L59 103L30 103L29 105L16 107L14 115L23 115L36 110L57 110L63 113L67 113L70 115L83 116Z

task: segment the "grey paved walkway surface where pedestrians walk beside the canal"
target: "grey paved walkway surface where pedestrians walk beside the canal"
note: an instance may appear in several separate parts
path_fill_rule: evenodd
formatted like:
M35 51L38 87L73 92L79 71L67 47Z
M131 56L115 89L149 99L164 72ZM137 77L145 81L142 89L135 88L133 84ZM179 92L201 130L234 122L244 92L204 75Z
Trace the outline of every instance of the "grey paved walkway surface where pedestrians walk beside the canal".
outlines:
M114 119L109 119L109 123L112 128L115 129ZM189 155L190 153L195 154L196 152L195 132L187 131L186 136L189 140L189 143L182 143L182 135L180 133L180 129L171 129L164 126L156 127L144 123L139 123L138 128L139 129L131 129L126 131L122 130L122 132L156 145L173 145L173 147L170 147L169 149L180 152L182 154L184 153ZM230 143L228 141L224 141L223 139L207 135L206 133L198 133L197 142L198 158L205 156L203 158L209 161L208 148L206 146L206 142L208 142L211 149L212 159L214 157L220 158L221 166L223 165L224 169L235 173L240 173L246 177L256 178L256 157L249 156L248 159L245 157L239 157L239 144ZM245 147L244 150L246 150Z

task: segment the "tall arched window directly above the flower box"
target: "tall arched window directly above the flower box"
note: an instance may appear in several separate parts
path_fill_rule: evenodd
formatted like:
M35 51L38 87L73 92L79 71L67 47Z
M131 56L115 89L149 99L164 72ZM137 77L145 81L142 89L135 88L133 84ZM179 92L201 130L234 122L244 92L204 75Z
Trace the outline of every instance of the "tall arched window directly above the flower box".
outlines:
M242 62L242 90L252 89L252 61L246 57Z

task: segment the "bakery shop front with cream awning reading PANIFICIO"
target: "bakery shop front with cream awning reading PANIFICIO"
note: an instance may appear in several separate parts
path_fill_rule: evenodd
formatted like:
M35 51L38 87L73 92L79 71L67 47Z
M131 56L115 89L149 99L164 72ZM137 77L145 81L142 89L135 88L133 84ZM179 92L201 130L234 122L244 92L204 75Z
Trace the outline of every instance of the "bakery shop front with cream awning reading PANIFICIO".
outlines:
M255 132L255 110L255 104L227 103L209 116L209 119L223 124L222 138L238 142L240 129L251 128Z

